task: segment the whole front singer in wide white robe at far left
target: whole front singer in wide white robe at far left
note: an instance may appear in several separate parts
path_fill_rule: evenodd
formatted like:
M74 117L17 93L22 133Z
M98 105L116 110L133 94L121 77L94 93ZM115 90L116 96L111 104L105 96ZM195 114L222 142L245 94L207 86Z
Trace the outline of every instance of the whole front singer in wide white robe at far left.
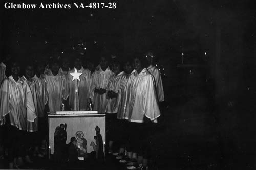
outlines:
M29 86L19 78L20 67L17 62L11 64L11 76L4 79L0 87L0 125L8 128L8 159L9 168L14 168L14 155L22 163L22 147L24 133L29 130L28 122L36 119L35 106ZM26 154L25 154L26 155ZM31 162L28 155L25 160Z

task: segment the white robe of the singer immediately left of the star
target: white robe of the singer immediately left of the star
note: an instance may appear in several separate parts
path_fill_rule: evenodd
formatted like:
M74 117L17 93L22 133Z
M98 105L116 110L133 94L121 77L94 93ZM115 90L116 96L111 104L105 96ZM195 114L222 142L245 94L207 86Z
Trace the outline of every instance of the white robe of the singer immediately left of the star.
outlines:
M46 90L48 96L48 106L50 114L55 114L56 111L61 111L63 92L65 90L65 75L60 72L53 75L49 70L49 74L43 75L46 80Z

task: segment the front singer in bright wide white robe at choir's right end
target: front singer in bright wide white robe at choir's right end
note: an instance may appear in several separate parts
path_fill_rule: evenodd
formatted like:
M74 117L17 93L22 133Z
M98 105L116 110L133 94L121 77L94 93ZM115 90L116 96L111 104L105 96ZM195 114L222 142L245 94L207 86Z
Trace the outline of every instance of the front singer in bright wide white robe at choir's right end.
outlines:
M133 60L134 70L127 81L127 103L124 118L129 121L127 141L133 152L148 148L148 135L152 130L150 122L157 122L160 116L154 77L145 68L141 55ZM145 157L146 155L144 155Z

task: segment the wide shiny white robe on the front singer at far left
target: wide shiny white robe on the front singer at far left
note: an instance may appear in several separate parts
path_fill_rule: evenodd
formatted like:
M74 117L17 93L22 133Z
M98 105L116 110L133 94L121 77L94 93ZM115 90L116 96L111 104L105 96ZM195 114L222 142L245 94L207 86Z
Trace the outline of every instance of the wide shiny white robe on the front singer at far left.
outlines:
M12 76L4 79L0 87L0 125L5 124L7 114L9 114L11 125L24 131L30 131L27 123L34 122L36 118L29 86L20 78L16 82Z

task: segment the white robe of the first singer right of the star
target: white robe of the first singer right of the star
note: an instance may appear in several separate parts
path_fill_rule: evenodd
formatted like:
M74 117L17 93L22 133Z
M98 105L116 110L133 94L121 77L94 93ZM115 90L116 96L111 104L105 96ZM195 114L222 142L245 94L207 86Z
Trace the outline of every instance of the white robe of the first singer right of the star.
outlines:
M106 108L106 93L100 95L99 93L94 93L94 89L106 89L109 83L109 79L114 73L108 67L103 71L98 65L93 73L93 80L91 85L91 95L93 96L93 110L97 110L98 113L105 113Z

